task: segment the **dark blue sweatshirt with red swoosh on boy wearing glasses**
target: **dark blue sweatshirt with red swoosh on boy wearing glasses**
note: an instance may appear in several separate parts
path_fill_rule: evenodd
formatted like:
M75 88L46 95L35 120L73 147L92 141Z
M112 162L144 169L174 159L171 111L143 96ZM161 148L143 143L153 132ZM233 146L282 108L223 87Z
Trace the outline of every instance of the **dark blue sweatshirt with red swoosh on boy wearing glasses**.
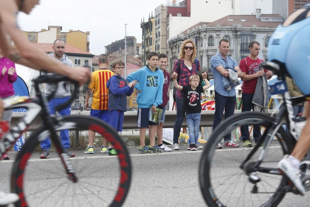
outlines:
M126 96L130 96L134 89L130 88L126 83L126 80L118 75L113 75L108 80L107 88L109 89L109 111L127 111Z

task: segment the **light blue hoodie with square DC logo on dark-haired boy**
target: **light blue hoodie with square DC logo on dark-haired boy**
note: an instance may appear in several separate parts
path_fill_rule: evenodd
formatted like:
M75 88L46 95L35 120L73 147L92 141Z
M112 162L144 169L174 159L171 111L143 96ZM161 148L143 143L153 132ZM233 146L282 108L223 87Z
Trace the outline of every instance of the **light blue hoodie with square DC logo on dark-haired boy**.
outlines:
M164 85L164 74L158 68L153 72L144 66L139 70L127 75L128 83L137 80L135 88L138 91L137 104L139 108L150 108L152 105L162 104L162 87Z

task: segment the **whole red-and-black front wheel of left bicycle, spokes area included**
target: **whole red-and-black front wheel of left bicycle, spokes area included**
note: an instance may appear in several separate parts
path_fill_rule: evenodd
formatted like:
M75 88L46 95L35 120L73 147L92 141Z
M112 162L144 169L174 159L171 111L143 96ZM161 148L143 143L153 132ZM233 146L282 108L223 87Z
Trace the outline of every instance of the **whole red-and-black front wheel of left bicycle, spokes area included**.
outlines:
M67 178L59 157L29 160L40 141L49 136L49 131L42 126L28 138L14 163L11 191L20 196L15 206L122 206L130 187L131 161L118 133L89 116L63 116L57 120L56 131L78 129L79 139L88 140L87 133L91 129L96 137L99 135L113 143L118 156L98 151L70 159L78 178L78 182L73 183Z

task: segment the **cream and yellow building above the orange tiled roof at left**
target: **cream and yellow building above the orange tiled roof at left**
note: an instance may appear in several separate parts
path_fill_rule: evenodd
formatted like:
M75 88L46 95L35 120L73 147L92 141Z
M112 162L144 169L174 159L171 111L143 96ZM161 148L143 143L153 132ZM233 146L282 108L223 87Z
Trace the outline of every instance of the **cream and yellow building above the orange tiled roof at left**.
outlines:
M48 29L41 29L39 32L23 31L23 33L31 43L54 43L56 39L62 39L73 47L89 52L90 32L72 29L69 32L62 32L62 26L48 26Z

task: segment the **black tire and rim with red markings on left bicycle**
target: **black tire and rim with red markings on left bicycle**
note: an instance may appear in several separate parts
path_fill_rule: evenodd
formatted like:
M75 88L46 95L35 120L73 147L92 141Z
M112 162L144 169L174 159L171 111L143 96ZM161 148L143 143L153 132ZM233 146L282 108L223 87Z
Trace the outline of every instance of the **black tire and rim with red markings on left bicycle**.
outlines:
M117 190L115 192L117 193L115 194L112 202L108 206L113 206L113 207L122 206L128 194L130 183L131 183L131 160L129 157L128 150L124 142L122 141L122 138L118 135L116 130L111 128L108 124L104 123L103 121L100 121L99 119L96 119L90 116L84 116L84 115L61 116L61 117L58 117L57 120L58 120L57 121L58 125L55 125L56 131L63 130L63 129L70 129L70 130L91 129L97 133L100 133L100 135L103 135L107 139L107 141L114 143L114 149L117 151L117 155L118 155L117 157L119 161L120 178L119 178L118 187L116 186ZM18 153L16 157L15 163L12 168L12 174L11 174L11 192L18 194L20 197L20 200L17 203L15 203L15 207L29 206L29 203L27 201L28 194L27 192L25 192L25 189L24 189L25 169L28 165L27 162L31 154L35 150L36 146L38 146L40 144L40 141L42 141L48 135L49 135L48 129L44 125L38 128L37 130L35 130L35 132L31 135L31 137L29 137L28 140L25 142L24 146L21 148L21 151ZM113 156L113 157L116 157L116 156ZM70 161L73 162L74 159L77 159L77 158L73 158ZM92 160L95 160L95 159L92 159ZM63 165L61 167L63 167ZM79 179L79 174L77 172L75 173ZM69 182L72 182L68 178L66 178L66 180L68 180ZM79 183L79 180L77 183ZM85 185L84 182L83 182L83 185ZM102 186L102 188L105 188L105 187ZM73 190L75 191L77 189L73 187ZM87 192L87 190L89 189L83 189L83 191L84 190L85 192ZM81 194L78 194L78 195L81 195ZM77 197L76 198L77 200L81 199L78 196L76 197ZM76 200L73 200L73 201L78 202ZM40 206L43 206L43 204ZM47 206L47 205L44 205L44 206ZM62 206L69 206L69 205L63 204ZM74 206L74 204L72 204L72 206ZM104 206L104 205L101 205L101 206Z

